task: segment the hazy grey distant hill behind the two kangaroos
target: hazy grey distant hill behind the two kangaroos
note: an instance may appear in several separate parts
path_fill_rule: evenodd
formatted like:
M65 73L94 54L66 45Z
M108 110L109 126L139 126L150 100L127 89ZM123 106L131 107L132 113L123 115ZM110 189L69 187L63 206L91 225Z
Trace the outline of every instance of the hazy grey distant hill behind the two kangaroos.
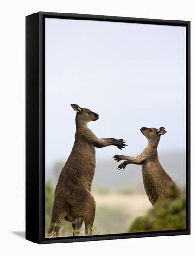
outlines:
M165 171L171 178L182 187L186 182L186 157L185 152L170 152L159 155L159 160ZM46 170L46 179L58 180L65 160L58 161L51 169ZM119 163L110 159L97 160L96 172L93 180L93 187L123 189L130 187L134 192L142 192L143 181L141 166L130 164L125 170L117 170Z

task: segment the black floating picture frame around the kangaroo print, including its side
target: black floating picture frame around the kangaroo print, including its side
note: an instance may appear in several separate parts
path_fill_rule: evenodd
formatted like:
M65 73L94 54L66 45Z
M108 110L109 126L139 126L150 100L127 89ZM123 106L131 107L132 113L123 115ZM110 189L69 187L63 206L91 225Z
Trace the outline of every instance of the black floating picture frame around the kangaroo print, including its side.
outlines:
M45 238L45 18L186 27L186 230ZM65 243L190 234L190 21L38 12L26 16L26 239Z

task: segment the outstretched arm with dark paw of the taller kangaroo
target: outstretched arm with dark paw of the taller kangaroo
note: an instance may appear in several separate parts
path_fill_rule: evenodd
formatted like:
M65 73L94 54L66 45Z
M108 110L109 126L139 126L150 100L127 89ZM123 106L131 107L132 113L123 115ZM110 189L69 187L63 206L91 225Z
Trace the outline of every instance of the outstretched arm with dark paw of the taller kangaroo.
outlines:
M122 150L122 148L125 148L125 146L127 146L125 144L126 142L123 139L117 140L115 138L104 138L104 139L97 138L96 135L91 130L87 131L84 134L84 138L86 141L90 142L96 148L103 148L103 147L113 145Z

